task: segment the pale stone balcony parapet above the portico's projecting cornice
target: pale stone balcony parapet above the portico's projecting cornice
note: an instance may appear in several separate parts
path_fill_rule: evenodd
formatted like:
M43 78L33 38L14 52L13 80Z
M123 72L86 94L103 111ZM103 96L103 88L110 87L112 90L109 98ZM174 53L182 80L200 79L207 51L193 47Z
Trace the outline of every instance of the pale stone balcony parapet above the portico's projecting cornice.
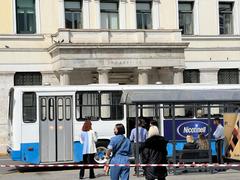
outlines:
M181 31L59 29L52 40L72 44L169 44L181 42Z

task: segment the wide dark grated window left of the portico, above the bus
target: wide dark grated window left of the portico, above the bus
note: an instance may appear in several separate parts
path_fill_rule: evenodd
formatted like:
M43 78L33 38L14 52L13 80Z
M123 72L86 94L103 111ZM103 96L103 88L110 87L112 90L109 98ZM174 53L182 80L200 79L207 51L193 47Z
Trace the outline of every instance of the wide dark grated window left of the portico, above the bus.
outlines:
M17 72L14 75L14 86L42 85L40 72Z

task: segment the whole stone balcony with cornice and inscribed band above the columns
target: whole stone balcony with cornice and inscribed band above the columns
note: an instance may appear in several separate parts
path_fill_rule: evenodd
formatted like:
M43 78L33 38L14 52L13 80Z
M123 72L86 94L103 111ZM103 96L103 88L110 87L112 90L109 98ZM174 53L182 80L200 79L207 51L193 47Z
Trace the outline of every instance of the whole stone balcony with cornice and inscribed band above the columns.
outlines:
M59 29L48 48L54 69L182 67L180 30Z

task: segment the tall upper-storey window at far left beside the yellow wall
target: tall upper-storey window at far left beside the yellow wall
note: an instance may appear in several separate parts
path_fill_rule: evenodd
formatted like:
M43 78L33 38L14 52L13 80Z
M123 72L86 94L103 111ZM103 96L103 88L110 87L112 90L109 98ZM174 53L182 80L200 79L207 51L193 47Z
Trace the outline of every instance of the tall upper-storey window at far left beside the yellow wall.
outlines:
M18 34L36 33L35 0L16 0Z

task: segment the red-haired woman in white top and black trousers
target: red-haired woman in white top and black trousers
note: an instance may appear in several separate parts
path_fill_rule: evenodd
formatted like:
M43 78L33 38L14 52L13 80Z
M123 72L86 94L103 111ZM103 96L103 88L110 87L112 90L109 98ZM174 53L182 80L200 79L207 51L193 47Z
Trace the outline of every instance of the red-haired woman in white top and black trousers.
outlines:
M82 127L82 133L80 136L80 142L83 144L83 164L94 164L94 155L97 152L96 149L96 142L97 142L97 136L96 133L92 130L92 123L90 120L85 120L83 127ZM84 171L85 168L80 168L79 178L84 178ZM90 167L89 170L89 178L94 179L94 169L93 167Z

